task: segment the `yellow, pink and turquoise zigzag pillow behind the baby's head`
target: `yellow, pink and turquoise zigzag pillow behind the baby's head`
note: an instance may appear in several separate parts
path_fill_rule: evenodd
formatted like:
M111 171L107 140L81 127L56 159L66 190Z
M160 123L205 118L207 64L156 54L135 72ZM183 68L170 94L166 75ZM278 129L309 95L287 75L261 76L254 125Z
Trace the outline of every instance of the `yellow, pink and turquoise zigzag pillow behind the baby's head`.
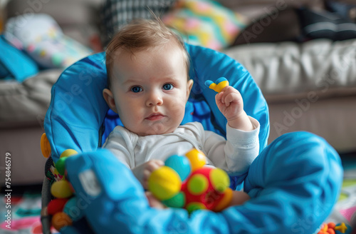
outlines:
M211 0L182 0L162 17L189 44L220 50L230 46L246 19Z

